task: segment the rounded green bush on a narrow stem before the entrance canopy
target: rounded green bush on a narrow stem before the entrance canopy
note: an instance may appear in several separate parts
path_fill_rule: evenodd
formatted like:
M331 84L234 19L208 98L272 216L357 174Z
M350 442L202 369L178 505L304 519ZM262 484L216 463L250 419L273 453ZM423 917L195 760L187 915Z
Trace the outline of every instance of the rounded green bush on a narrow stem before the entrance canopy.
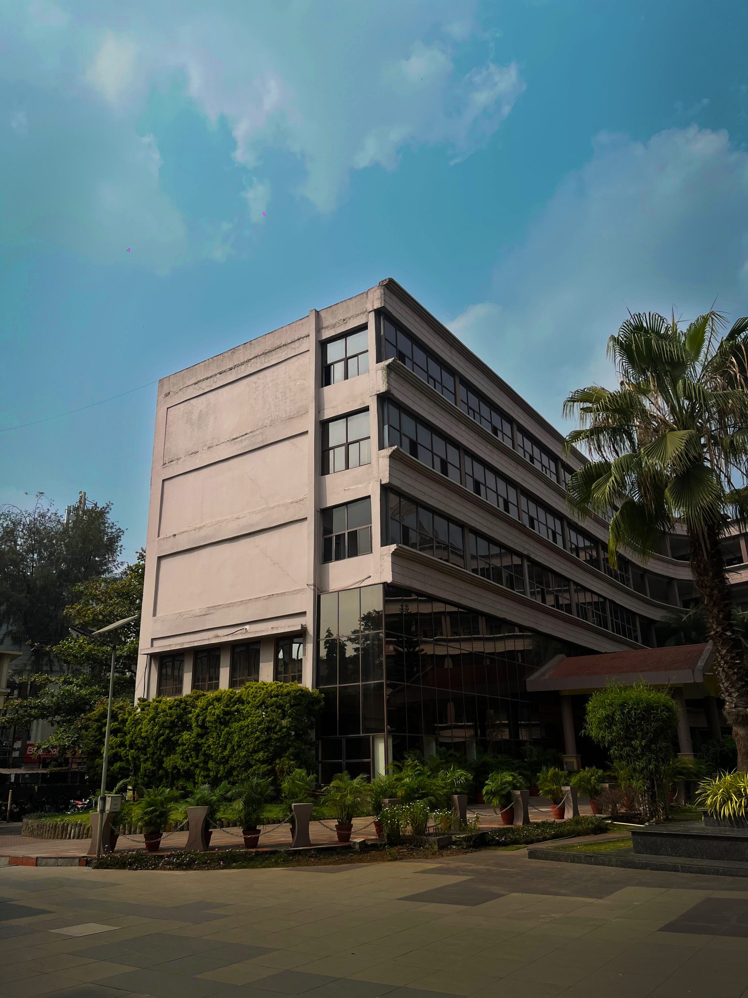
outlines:
M612 684L587 702L585 734L608 749L613 761L630 773L647 819L667 813L664 782L677 725L672 697L644 683Z

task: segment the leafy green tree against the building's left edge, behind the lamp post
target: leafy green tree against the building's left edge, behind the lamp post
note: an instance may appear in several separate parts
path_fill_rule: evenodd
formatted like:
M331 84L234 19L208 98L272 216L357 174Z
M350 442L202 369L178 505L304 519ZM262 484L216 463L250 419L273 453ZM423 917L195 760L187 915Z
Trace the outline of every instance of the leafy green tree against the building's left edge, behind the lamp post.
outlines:
M90 748L87 716L105 705L109 697L109 670L112 644L116 642L115 698L133 704L135 676L138 667L138 638L146 558L128 565L119 575L92 579L73 587L76 600L65 608L69 623L96 631L116 620L135 616L132 624L109 635L110 643L95 638L69 635L47 651L63 663L63 675L40 673L31 677L36 695L28 700L6 701L3 724L28 729L34 721L45 721L55 732L37 749L57 748L64 751L85 751Z

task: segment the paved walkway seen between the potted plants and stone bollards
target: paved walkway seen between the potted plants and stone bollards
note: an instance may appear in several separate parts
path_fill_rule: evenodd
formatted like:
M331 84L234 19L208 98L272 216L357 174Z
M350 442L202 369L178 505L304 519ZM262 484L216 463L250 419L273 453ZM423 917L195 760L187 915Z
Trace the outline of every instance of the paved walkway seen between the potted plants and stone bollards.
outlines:
M550 814L547 811L548 802L541 797L534 798L535 809L533 810L534 820L548 820ZM473 808L471 808L473 809ZM502 820L494 811L485 805L478 805L475 810L481 815L481 827L495 828L502 826ZM589 813L589 805L579 805L580 813ZM376 838L373 818L357 817L353 822L353 836L363 838ZM7 828L9 833L0 835L0 856L85 856L91 846L90 838L62 839L62 838L28 838L18 833L12 834L13 830L20 831L20 824L14 828ZM324 822L312 821L310 824L310 838L314 845L331 845L337 841L334 830L334 819ZM169 832L162 839L161 852L171 852L174 849L181 849L187 844L187 831ZM240 828L216 828L213 831L210 841L211 846L221 848L243 845ZM260 848L290 848L291 833L287 824L280 827L268 826L268 830L262 834L259 840ZM120 835L117 843L117 852L125 852L131 849L143 849L145 843L143 835Z

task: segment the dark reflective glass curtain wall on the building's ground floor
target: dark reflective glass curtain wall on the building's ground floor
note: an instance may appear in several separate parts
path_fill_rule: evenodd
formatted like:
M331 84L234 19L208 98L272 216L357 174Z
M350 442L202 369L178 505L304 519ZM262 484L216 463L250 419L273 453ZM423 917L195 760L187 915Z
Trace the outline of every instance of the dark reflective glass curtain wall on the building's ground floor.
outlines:
M370 773L377 737L387 739L390 761L440 748L468 757L478 749L519 756L528 743L543 741L528 676L561 653L589 654L389 585L321 596L319 628L323 780L344 761L351 774Z

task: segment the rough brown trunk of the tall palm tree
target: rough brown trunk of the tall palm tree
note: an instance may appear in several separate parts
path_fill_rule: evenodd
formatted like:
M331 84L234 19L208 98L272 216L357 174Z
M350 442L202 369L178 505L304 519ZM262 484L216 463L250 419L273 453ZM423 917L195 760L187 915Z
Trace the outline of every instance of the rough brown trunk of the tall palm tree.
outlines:
M704 602L704 617L714 645L714 672L725 702L724 715L738 749L738 769L748 770L748 665L732 619L730 587L719 547L719 533L688 531L693 581Z

